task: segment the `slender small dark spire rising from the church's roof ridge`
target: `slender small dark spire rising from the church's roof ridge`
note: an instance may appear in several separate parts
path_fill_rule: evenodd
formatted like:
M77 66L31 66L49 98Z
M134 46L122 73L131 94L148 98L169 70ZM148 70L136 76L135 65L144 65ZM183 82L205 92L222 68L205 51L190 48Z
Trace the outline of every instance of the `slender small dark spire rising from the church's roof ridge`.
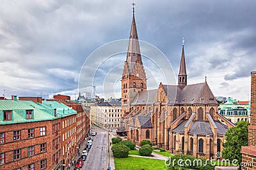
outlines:
M179 87L183 89L187 85L187 72L186 72L186 62L185 62L185 54L184 54L184 38L182 40L182 53L180 60L180 72L178 75Z

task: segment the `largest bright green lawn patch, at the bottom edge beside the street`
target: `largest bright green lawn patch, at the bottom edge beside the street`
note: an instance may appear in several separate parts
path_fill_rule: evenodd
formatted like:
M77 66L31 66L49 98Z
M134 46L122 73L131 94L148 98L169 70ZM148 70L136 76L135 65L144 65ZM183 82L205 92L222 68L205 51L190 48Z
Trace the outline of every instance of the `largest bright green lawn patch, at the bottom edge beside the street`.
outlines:
M115 158L116 170L166 170L164 160L148 159L140 157Z

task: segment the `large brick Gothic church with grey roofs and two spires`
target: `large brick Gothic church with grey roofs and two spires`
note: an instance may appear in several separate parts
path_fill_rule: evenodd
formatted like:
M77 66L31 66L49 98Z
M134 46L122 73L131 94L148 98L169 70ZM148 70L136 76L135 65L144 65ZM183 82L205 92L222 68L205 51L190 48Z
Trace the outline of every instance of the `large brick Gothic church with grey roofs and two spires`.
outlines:
M225 132L235 125L218 114L218 103L206 79L191 85L187 82L183 43L178 85L159 82L158 89L147 90L133 9L122 73L121 124L127 139L138 146L147 139L170 153L216 158L223 149Z

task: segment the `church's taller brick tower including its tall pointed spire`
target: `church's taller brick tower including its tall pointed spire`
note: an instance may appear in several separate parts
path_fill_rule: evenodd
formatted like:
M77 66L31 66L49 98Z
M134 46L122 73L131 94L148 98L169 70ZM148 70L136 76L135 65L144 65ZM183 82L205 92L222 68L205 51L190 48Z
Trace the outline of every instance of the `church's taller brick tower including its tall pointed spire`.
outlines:
M122 74L122 118L132 111L131 102L138 92L147 90L147 78L141 60L140 45L134 17L134 3L127 57Z

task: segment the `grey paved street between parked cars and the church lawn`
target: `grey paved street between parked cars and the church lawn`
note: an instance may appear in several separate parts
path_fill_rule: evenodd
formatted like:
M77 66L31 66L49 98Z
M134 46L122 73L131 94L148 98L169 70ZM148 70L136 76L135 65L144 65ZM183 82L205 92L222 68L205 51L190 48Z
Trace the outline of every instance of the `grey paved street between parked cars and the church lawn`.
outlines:
M107 160L108 132L99 127L93 126L92 132L97 132L93 136L93 145L84 161L83 170L104 170Z

